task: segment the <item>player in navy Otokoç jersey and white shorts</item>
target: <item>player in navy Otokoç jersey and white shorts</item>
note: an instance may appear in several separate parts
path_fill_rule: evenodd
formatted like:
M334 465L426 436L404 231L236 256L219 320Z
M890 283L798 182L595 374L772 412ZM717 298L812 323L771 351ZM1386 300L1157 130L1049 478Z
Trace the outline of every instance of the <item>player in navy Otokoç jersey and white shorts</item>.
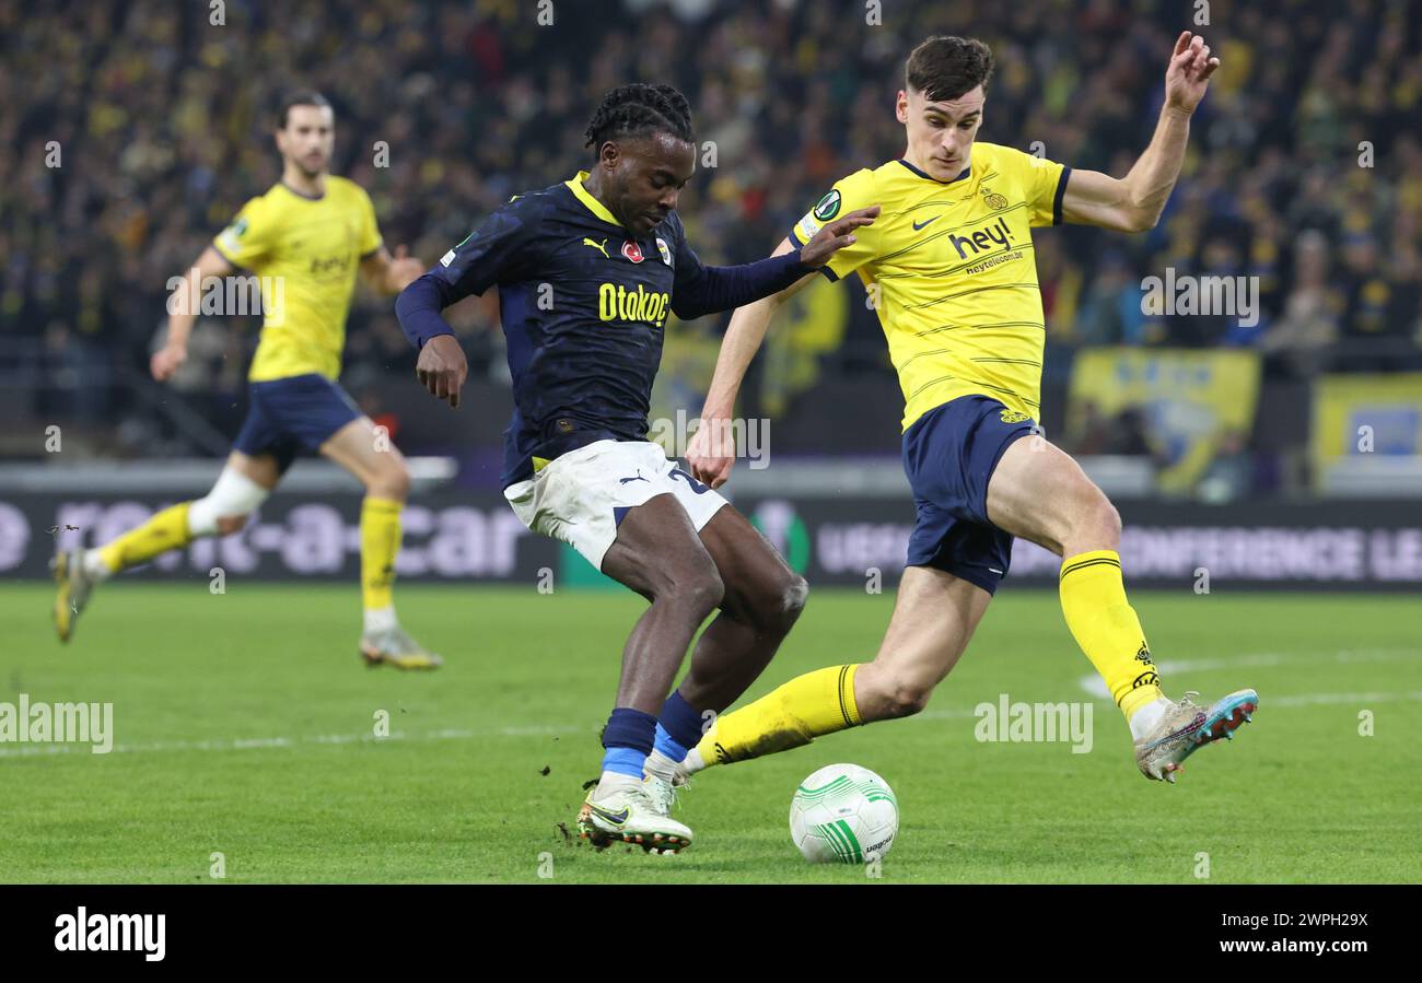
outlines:
M466 375L439 313L499 288L515 411L505 497L533 531L569 543L651 604L623 649L603 773L579 813L594 844L678 851L671 781L701 739L769 663L805 605L805 581L714 490L647 440L651 384L670 314L690 320L789 287L856 241L865 207L759 263L702 266L677 196L695 170L685 97L623 85L590 125L590 172L515 196L401 294L419 381L451 406ZM671 693L691 638L691 668Z

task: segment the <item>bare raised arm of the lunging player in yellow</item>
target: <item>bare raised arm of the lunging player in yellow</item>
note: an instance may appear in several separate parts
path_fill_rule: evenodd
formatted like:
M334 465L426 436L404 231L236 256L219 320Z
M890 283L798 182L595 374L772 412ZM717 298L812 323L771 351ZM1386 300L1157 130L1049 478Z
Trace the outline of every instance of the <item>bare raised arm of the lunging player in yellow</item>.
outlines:
M1190 115L1219 67L1220 60L1210 57L1204 38L1183 31L1166 68L1165 105L1150 146L1121 179L1098 170L1072 170L1062 196L1062 217L1116 232L1153 229L1180 176Z

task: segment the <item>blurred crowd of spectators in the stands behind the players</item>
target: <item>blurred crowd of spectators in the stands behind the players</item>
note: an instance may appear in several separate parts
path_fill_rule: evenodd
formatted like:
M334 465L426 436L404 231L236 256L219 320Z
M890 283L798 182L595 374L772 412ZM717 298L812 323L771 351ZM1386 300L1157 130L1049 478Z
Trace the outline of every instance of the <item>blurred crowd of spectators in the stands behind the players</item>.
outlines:
M53 384L40 412L139 412L122 393L146 371L168 280L276 180L272 111L297 87L334 104L334 170L371 192L385 241L432 263L510 195L586 166L603 91L674 82L715 153L683 196L690 239L705 261L741 263L833 180L902 153L893 98L923 37L993 47L980 139L1122 176L1149 142L1180 30L1223 64L1159 226L1035 239L1049 379L1081 345L1254 348L1280 379L1422 366L1415 4L1214 3L1203 27L1199 4L1148 0L884 3L882 24L867 23L875 6L0 0L0 372ZM1142 278L1166 268L1257 277L1257 318L1142 313ZM796 385L892 378L872 313L848 308L842 337L799 352ZM471 301L452 320L475 372L496 378L496 310ZM714 357L724 324L668 334L678 392L704 391L710 362L677 347ZM257 328L202 322L178 384L228 432ZM391 303L358 300L347 385L412 364ZM1130 420L1115 429L1116 443L1136 439Z

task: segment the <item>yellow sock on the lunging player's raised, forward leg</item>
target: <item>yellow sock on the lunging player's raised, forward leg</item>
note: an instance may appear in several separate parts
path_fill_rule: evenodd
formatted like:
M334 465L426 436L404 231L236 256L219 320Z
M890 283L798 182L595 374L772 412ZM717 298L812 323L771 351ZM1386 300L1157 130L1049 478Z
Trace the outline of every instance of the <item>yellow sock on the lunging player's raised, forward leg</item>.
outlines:
M1130 720L1160 697L1160 678L1136 609L1126 601L1121 557L1115 550L1094 550L1062 561L1061 595L1066 626Z

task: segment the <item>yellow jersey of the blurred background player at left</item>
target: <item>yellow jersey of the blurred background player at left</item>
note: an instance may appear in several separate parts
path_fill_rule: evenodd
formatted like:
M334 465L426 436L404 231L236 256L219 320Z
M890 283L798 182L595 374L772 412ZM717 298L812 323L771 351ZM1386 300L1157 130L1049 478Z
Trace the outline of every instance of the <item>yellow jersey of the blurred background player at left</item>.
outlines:
M381 246L365 190L327 176L326 193L307 197L276 183L242 206L212 246L260 277L262 338L247 378L338 376L356 274Z

